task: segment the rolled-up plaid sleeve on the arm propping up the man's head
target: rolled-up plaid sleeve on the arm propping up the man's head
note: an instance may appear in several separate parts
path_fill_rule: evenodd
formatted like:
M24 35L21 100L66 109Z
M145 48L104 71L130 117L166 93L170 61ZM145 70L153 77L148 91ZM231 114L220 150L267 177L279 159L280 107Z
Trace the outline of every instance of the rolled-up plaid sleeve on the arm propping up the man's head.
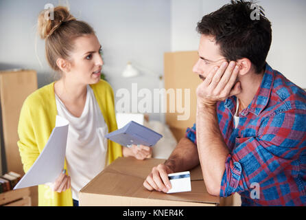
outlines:
M284 168L305 151L305 121L305 111L284 111L264 119L256 137L236 138L226 158L220 197L250 190L254 184L277 184Z

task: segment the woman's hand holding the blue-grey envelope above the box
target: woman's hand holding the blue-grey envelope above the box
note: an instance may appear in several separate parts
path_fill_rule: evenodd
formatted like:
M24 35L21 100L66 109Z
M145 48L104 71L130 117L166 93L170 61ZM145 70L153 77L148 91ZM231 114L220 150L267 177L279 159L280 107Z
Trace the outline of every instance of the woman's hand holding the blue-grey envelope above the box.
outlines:
M132 144L130 148L123 146L123 157L135 157L136 159L150 158L152 157L152 147L141 144Z

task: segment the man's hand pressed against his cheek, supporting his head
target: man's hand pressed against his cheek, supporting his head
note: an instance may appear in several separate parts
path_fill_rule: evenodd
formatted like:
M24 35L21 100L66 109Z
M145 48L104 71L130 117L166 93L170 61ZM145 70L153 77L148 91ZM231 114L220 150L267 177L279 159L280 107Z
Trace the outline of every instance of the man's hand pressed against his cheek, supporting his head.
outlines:
M214 67L207 78L196 89L198 107L212 107L218 101L241 92L240 82L236 83L239 66L235 61Z

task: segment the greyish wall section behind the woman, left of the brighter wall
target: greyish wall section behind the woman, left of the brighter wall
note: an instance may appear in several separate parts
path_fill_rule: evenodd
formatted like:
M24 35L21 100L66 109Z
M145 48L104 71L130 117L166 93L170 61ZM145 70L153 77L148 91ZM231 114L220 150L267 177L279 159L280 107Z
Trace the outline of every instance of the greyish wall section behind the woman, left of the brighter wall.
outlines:
M61 1L66 5L66 1ZM158 75L163 74L163 54L170 48L170 1L165 0L71 0L71 13L93 26L102 44L103 71L115 93L120 88L131 90L158 88ZM0 69L27 68L38 72L38 86L54 80L45 59L45 43L37 40L36 22L46 3L58 1L0 0ZM141 76L121 78L126 63L141 67ZM156 73L156 76L152 75ZM158 119L158 114L151 118Z

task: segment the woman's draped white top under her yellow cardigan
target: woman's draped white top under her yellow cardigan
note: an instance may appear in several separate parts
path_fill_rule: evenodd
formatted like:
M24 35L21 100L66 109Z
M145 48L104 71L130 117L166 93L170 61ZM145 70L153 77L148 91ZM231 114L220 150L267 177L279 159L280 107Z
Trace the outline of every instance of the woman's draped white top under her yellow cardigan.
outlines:
M56 95L58 115L69 121L66 161L71 177L72 198L78 200L79 191L106 166L108 133L93 89L87 85L86 103L80 118L71 115Z

